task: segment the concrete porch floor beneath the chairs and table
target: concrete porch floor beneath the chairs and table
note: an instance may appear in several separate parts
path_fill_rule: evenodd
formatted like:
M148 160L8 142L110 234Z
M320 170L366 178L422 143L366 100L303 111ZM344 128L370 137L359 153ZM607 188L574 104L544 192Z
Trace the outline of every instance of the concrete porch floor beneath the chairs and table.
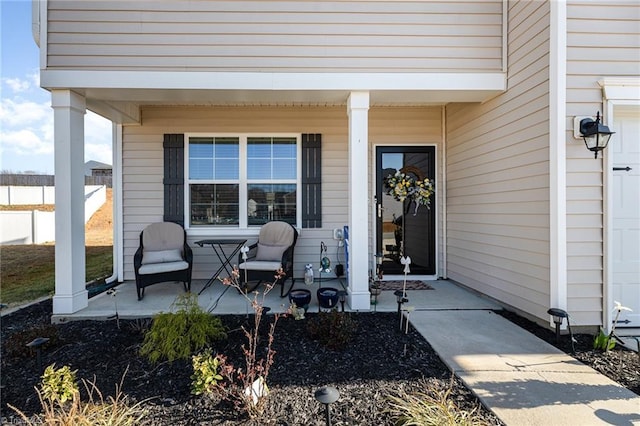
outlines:
M206 280L194 280L191 283L191 291L199 293L204 287ZM287 283L288 284L288 283ZM500 306L493 301L476 295L450 281L438 280L429 281L433 290L407 290L409 302L406 306L413 306L416 311L420 310L448 310L448 309L499 309ZM322 287L334 287L342 289L342 281L337 279L322 282ZM294 288L307 288L311 290L312 299L309 306L310 312L318 311L316 290L319 283L313 286L306 286L302 280L296 281ZM136 295L136 285L133 281L126 281L116 287L115 296L106 293L89 299L89 306L71 315L56 315L54 322L95 319L103 320L111 317L116 312L124 319L151 317L158 312L171 310L171 305L176 297L184 293L182 283L161 283L147 287L145 296L138 301ZM260 294L259 298L262 297ZM246 299L231 287L226 287L220 282L215 282L205 289L198 296L200 306L214 314L245 314L250 309ZM264 306L271 308L271 312L284 312L289 307L289 299L280 297L280 287L274 287L267 294ZM371 306L371 310L380 312L393 312L398 309L396 296L393 291L383 291L378 296L378 303ZM351 311L348 304L345 310Z

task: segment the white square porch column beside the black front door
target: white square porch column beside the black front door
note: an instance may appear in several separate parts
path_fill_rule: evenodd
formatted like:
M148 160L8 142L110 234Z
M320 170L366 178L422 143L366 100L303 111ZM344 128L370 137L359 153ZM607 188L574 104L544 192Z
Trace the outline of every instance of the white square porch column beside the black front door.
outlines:
M369 92L351 92L349 115L349 306L368 310Z

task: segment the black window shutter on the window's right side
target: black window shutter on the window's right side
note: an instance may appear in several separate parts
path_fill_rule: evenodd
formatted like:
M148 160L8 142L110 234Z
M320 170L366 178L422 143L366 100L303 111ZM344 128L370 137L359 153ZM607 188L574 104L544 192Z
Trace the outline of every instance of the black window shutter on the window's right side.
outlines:
M322 135L302 135L302 227L322 227Z

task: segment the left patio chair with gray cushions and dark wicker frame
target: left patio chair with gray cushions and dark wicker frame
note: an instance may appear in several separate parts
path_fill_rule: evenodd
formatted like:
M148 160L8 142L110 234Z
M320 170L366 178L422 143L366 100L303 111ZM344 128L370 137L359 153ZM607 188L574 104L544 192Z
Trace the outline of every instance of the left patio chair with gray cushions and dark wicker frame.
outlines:
M150 285L182 281L184 290L191 291L193 252L187 244L184 228L172 222L158 222L140 233L140 247L133 256L138 300Z

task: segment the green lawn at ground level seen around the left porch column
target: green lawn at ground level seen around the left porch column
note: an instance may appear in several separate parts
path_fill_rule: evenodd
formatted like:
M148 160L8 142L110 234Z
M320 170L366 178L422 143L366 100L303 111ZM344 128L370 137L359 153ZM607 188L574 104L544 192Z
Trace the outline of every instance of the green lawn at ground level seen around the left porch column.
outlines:
M85 262L86 282L110 276L113 246L88 246ZM0 302L11 306L53 295L55 246L3 246L0 264Z

